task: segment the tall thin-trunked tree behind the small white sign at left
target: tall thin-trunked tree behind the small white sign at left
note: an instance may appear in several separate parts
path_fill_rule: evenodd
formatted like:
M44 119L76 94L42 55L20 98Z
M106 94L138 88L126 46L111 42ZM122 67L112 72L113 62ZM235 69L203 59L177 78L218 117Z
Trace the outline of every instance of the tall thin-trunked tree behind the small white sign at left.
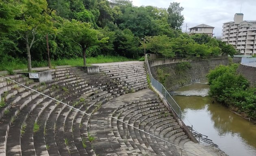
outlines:
M33 44L43 39L52 30L51 16L48 14L46 0L21 0L20 14L15 19L19 22L17 32L26 42L28 71L32 71L30 49ZM45 33L36 38L38 33Z

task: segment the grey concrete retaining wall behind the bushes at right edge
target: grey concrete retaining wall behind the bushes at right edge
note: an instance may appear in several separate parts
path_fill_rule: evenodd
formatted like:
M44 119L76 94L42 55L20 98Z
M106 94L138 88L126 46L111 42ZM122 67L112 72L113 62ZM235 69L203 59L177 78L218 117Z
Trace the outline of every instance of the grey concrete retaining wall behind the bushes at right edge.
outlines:
M243 76L245 76L245 78L251 82L252 87L256 85L256 67L239 65L237 72L243 74Z

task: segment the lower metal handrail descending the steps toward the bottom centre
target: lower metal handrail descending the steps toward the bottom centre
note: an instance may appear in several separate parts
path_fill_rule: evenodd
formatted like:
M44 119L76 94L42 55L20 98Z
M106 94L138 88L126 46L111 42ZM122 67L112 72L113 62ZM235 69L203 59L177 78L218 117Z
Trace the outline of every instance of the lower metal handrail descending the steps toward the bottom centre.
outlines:
M186 152L189 152L189 153L191 153L191 154L193 154L193 155L195 155L195 156L199 156L199 155L197 155L197 154L194 154L193 152L190 152L190 151L188 151L188 150L185 150L185 149L182 148L182 147L179 147L179 146L177 146L177 145L174 145L174 144L172 144L172 143L170 143L170 142L168 142L168 141L165 141L164 139L161 139L161 138L159 138L159 137L156 137L156 136L154 136L153 134L150 134L150 133L148 133L148 132L145 132L144 130L141 130L141 129L137 128L137 127L134 127L134 126L132 126L132 125L130 125L130 124L124 122L124 121L121 121L121 120L119 120L119 119L117 119L117 118L115 118L115 117L112 117L112 116L108 117L108 128L109 128L109 118L116 119L117 121L120 121L120 122L126 124L126 125L127 125L127 136L128 136L128 126L131 126L132 128L135 128L135 129L137 129L137 130L139 130L139 131L141 131L141 132L143 132L143 133L145 133L145 134L148 134L148 135L150 135L150 136L152 136L152 137L155 137L156 139L159 139L159 140L163 141L163 142L164 142L163 152L165 152L165 143L169 143L170 145L173 145L173 146L175 146L175 147L178 147L178 148L181 150L181 156L182 156L182 151L183 151L183 150L186 151Z

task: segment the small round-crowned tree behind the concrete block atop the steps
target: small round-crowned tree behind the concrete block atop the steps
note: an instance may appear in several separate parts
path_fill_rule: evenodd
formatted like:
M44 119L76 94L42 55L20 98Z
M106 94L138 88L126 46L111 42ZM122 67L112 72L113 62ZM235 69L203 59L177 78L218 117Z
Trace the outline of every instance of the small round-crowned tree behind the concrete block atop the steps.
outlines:
M108 37L99 39L99 31L91 28L91 25L85 22L72 20L66 21L63 25L63 34L67 35L74 43L82 48L84 66L86 66L86 51L88 48L108 42Z

